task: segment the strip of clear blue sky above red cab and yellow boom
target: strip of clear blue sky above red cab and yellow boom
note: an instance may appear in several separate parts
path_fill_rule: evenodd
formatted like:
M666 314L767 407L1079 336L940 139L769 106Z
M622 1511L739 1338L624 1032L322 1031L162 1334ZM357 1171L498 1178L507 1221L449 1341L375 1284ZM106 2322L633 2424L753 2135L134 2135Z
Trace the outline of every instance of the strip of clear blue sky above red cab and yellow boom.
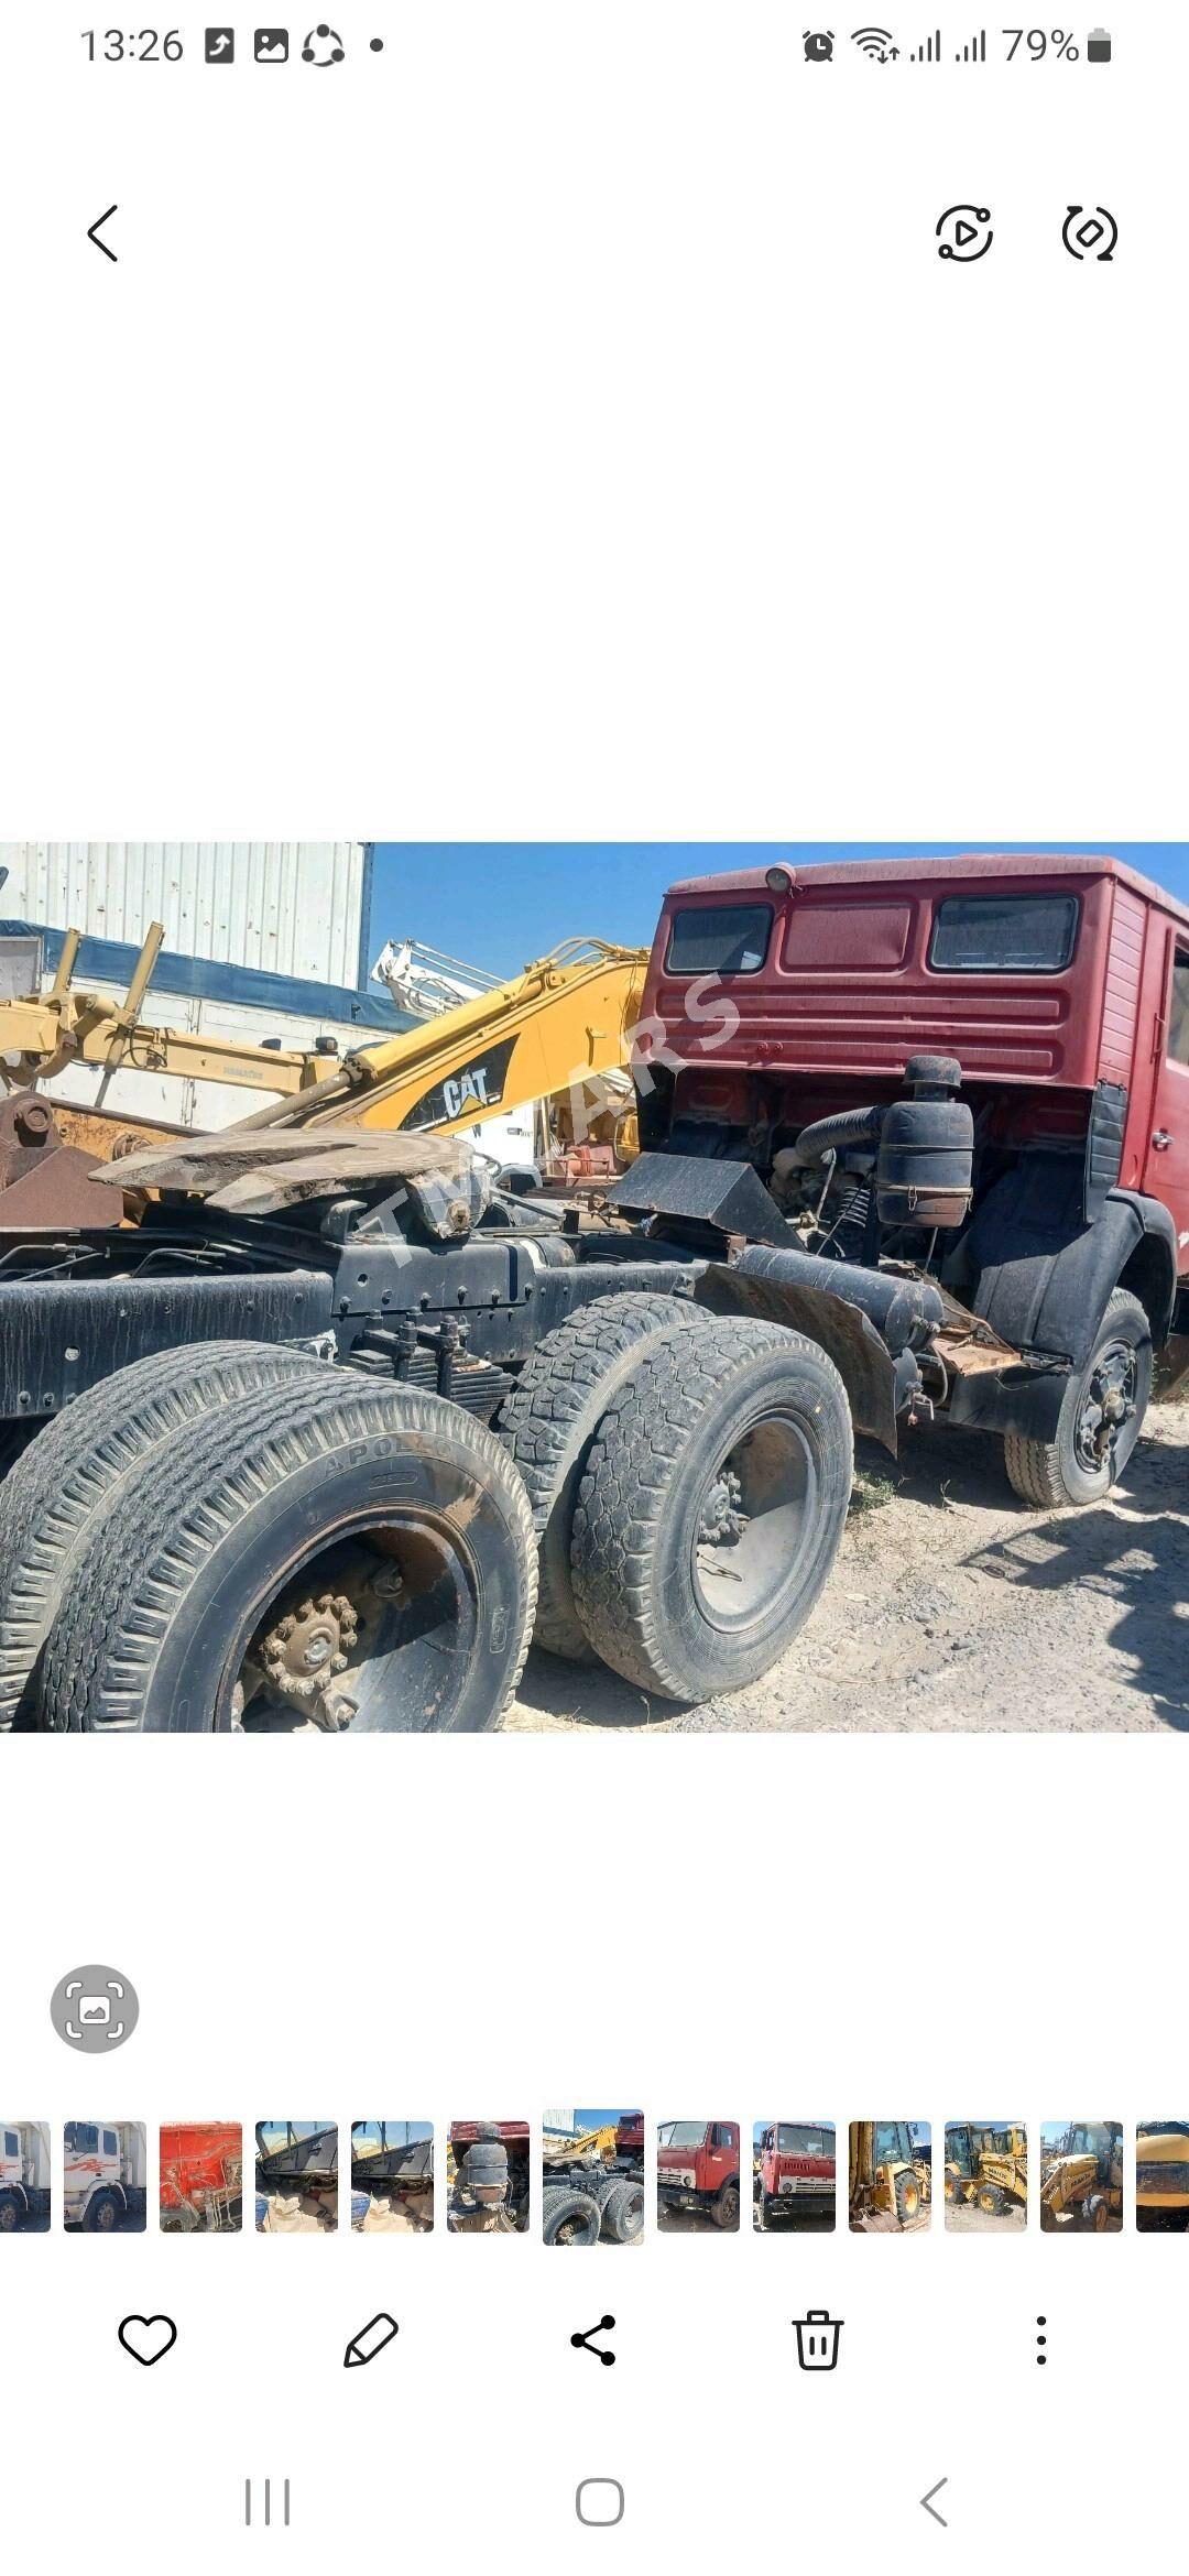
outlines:
M389 938L427 940L489 974L520 974L558 940L594 933L646 948L667 886L679 876L726 868L798 868L839 858L952 858L955 850L1086 850L1112 853L1189 902L1184 840L548 840L548 842L376 842L371 945Z

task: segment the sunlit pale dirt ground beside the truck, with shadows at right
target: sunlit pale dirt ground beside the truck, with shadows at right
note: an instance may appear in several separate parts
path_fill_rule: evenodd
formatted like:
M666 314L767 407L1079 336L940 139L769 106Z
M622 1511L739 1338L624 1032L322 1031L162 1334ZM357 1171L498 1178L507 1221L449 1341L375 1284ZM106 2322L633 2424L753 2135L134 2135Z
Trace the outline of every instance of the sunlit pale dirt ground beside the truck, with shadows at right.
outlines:
M533 1651L504 1728L1189 1731L1189 1404L1153 1406L1086 1512L1035 1512L999 1440L862 1443L842 1553L788 1656L703 1708Z

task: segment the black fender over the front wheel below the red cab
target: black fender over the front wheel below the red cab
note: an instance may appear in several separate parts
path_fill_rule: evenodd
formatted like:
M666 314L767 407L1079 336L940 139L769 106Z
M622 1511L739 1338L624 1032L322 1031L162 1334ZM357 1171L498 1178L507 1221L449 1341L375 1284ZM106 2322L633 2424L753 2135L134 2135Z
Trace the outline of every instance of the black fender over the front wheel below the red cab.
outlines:
M1168 1340L1176 1293L1176 1229L1140 1190L1107 1190L1101 1213L1081 1213L1081 1167L1063 1154L1027 1154L988 1193L968 1236L978 1270L973 1311L1017 1350L1083 1368L1112 1288L1132 1288Z

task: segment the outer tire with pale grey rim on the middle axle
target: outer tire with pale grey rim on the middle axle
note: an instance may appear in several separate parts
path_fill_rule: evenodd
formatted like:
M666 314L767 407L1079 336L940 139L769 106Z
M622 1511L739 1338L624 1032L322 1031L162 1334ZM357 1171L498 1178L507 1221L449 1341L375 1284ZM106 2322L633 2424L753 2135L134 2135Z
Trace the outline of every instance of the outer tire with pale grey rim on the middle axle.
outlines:
M574 1605L638 1690L710 1700L793 1641L839 1551L847 1388L785 1324L708 1319L600 1422L571 1535Z

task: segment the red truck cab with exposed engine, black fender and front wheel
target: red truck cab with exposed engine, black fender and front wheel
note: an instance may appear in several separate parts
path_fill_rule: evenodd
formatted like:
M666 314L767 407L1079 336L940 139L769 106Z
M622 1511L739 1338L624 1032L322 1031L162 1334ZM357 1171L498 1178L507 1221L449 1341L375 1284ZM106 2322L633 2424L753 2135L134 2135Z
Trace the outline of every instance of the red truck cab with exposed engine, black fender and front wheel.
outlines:
M1035 1504L1109 1489L1189 1365L1181 902L1076 853L687 878L633 1069L613 1200L741 1247L718 1303L821 1340L860 1430L945 1412Z

